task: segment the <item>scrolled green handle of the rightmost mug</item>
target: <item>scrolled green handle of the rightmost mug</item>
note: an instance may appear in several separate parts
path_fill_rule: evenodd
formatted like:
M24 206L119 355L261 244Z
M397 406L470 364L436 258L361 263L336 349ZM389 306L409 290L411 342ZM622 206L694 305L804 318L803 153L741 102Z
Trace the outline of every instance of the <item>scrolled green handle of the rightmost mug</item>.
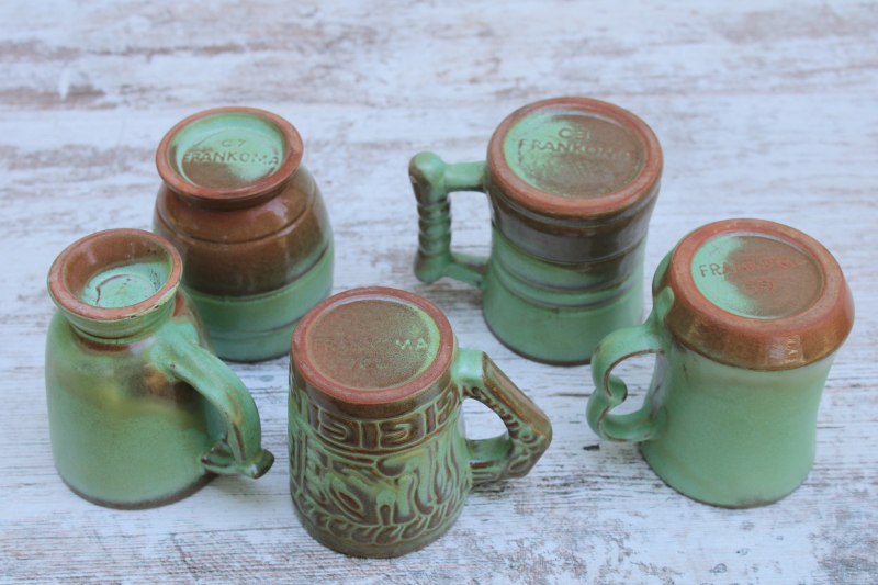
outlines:
M595 391L588 398L586 419L599 437L611 441L646 441L655 439L667 423L664 408L652 412L649 402L634 413L614 415L610 410L628 397L628 386L611 374L612 369L633 356L665 353L664 316L674 303L674 292L666 288L655 301L652 313L642 325L618 329L605 337L592 356L592 381Z

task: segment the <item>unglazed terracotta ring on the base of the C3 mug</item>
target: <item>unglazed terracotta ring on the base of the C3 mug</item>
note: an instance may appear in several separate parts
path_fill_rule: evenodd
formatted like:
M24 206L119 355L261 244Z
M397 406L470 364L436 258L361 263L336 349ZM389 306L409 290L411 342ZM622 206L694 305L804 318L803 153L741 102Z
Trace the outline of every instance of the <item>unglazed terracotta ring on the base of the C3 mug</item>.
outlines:
M616 122L634 137L643 166L634 179L611 193L590 198L562 196L548 193L525 182L506 162L503 144L513 126L525 116L543 108L570 106L584 113ZM487 167L494 183L514 203L541 215L581 217L618 213L638 202L654 196L662 177L662 146L652 128L628 110L592 98L553 98L516 110L504 120L487 147Z

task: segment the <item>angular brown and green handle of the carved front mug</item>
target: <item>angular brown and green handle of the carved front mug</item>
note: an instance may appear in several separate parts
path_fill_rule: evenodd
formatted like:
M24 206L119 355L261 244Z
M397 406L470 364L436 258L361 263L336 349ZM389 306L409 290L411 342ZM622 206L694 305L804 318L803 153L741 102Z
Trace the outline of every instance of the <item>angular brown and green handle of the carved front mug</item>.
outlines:
M491 439L466 440L472 449L473 484L527 475L552 442L545 413L484 351L458 349L453 371L463 396L494 410L507 429Z

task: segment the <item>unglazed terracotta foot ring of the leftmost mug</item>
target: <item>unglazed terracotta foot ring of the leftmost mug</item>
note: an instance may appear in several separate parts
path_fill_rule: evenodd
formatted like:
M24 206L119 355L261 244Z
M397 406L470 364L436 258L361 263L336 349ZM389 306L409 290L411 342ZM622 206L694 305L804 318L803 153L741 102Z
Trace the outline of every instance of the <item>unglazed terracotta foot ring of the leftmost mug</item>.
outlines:
M157 246L160 246L165 251L167 251L171 257L171 273L168 277L167 282L158 290L155 294L149 296L139 303L127 305L127 306L120 306L120 307L102 307L102 306L94 306L88 303L83 303L76 295L70 292L70 289L67 286L67 279L66 279L66 268L69 266L70 260L80 254L87 254L89 247L91 247L95 240L104 239L104 238L121 238L121 239L131 239L131 238L143 238L151 240ZM156 307L157 305L161 304L168 299L171 299L177 291L177 286L180 284L180 275L183 272L183 263L180 260L180 254L177 249L171 246L171 244L162 238L161 236L157 236L151 232L145 232L143 229L133 229L133 228L117 228L117 229L105 229L103 232L97 232L89 236L86 236L77 241L70 244L65 250L55 259L52 263L52 268L48 271L48 291L52 295L53 300L64 307L66 311L75 315L79 315L81 317L98 320L98 322L113 322L113 320L121 320L137 317L143 315L144 313L150 311L151 308Z

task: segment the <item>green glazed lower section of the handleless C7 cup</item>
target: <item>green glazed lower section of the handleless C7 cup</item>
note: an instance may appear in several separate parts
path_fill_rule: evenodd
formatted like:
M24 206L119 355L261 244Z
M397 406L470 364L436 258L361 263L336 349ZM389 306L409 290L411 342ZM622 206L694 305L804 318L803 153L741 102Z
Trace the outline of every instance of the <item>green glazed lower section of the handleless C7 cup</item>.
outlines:
M329 296L333 243L317 262L290 284L262 294L216 296L183 285L211 331L216 353L237 361L278 358L290 350L299 319ZM281 325L278 325L281 324Z

